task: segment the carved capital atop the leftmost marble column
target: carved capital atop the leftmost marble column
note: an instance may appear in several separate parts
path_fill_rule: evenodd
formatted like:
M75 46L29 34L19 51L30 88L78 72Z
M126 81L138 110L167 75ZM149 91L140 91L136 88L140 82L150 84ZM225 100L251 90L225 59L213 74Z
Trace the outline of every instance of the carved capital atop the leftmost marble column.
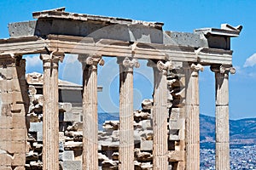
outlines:
M58 68L59 61L64 59L64 53L40 54L40 59L43 60L44 68Z

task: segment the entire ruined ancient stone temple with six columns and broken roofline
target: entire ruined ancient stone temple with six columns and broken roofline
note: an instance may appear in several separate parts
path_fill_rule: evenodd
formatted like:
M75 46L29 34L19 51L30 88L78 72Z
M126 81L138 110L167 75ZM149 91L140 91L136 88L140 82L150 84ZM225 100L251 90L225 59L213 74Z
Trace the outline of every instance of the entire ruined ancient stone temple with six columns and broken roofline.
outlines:
M0 170L200 169L198 80L206 65L216 81L216 169L230 169L230 37L238 37L241 26L184 33L164 31L160 22L65 8L32 16L36 20L9 24L10 37L0 40ZM25 54L39 54L44 76L26 76ZM80 89L80 105L60 98L65 54L78 54L82 64L83 86L65 88ZM98 132L102 56L119 65L119 121L105 122ZM143 110L133 111L138 59L153 69L154 89ZM39 79L41 88L32 83Z

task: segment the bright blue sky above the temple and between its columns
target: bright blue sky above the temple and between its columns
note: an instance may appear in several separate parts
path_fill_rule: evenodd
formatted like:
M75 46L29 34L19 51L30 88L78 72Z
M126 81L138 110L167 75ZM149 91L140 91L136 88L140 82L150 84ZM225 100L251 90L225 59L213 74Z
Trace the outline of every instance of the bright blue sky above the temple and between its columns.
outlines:
M32 1L32 0L0 0L0 38L9 37L8 23L32 20L32 12L50 8L66 7L67 12L107 15L131 18L134 20L164 22L164 30L192 32L196 28L216 27L223 23L231 26L242 25L241 36L232 38L231 48L234 50L233 64L236 74L230 75L230 118L255 117L256 109L256 17L254 1ZM253 55L254 54L254 55ZM79 82L79 74L73 74L69 67L76 66L73 56L65 59L60 65L60 77ZM99 69L99 77L106 77L105 69L110 65L114 77L110 80L99 79L99 85L108 89L110 97L99 94L100 111L118 111L118 66L114 59L107 59L106 68ZM42 71L38 56L27 57L27 71ZM135 70L135 99L139 102L152 94L152 77L150 69L141 61L141 68ZM65 65L68 64L68 65ZM74 70L77 71L77 70ZM109 71L109 74L110 72ZM74 77L76 75L77 77ZM108 75L107 75L108 76ZM143 79L143 82L142 82ZM110 82L110 84L107 82ZM214 74L205 69L200 74L201 113L214 116ZM109 99L108 99L109 98ZM112 101L111 105L102 101Z

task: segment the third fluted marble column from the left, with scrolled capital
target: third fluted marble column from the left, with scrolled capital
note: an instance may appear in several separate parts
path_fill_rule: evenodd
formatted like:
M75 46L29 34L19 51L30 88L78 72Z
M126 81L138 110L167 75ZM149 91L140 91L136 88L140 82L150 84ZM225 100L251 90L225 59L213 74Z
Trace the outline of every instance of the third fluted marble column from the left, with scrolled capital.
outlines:
M134 169L133 66L137 59L119 58L119 169Z

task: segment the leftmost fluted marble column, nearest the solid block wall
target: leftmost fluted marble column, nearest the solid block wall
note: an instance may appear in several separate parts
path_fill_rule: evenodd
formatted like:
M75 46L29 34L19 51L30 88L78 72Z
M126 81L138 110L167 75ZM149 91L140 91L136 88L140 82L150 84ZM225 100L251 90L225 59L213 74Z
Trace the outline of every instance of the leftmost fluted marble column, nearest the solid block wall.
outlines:
M58 65L64 54L41 54L44 65L43 169L59 170Z

